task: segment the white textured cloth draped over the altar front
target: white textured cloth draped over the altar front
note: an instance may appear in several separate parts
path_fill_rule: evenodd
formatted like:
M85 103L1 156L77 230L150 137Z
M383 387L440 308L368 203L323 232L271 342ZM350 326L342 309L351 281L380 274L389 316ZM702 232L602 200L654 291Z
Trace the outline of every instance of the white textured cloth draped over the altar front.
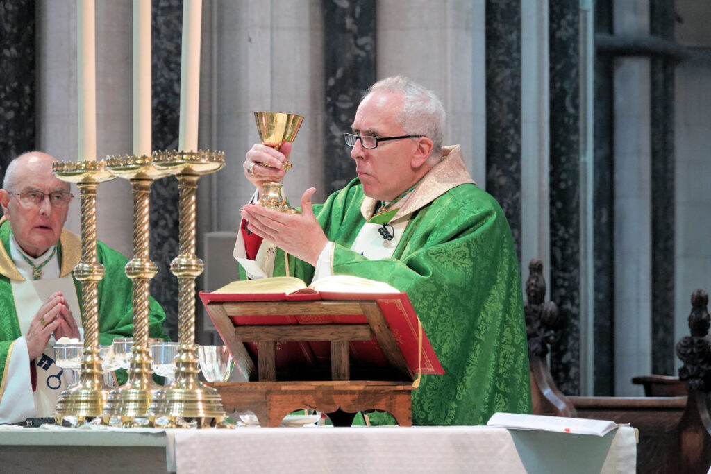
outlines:
M634 473L634 429L606 436L488 426L173 430L191 473Z

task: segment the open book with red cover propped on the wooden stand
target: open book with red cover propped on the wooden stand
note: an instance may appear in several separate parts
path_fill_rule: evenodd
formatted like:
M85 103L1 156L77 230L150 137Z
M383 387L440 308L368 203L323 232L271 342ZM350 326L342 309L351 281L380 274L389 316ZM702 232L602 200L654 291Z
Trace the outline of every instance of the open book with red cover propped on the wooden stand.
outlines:
M387 329L392 333L412 375L444 374L427 334L412 308L407 293L398 291L380 281L358 276L330 276L306 286L303 281L289 276L277 276L258 280L233 281L212 293L201 292L208 315L215 322L224 312L231 325L363 325L370 324L363 313L338 314L338 311L309 311L308 308L290 313L288 308L275 311L275 305L251 305L249 310L240 310L237 303L287 301L309 303L310 301L342 301L344 303L375 301L383 313ZM220 306L220 311L215 311ZM255 309L258 308L258 309ZM290 307L289 307L290 308ZM220 325L215 323L220 330ZM224 335L220 333L225 339ZM245 343L248 352L256 355L257 346ZM370 340L351 340L348 343L353 370L357 367L387 366L387 357L372 333ZM288 372L289 366L326 364L331 357L330 344L321 341L277 343L277 370Z

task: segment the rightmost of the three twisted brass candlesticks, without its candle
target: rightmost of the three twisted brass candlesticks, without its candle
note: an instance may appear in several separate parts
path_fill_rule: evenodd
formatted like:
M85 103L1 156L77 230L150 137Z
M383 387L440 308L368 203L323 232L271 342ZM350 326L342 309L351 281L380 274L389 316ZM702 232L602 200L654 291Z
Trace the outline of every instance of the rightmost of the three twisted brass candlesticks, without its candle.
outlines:
M194 419L199 428L205 419L215 419L218 426L228 427L225 410L217 390L198 380L197 346L195 345L195 279L203 273L203 262L195 254L195 200L198 179L225 165L222 152L164 151L153 154L153 166L176 175L180 202L179 254L171 262L171 272L178 277L178 355L176 379L169 387L154 393L149 408L151 417L165 418L169 428L188 427Z

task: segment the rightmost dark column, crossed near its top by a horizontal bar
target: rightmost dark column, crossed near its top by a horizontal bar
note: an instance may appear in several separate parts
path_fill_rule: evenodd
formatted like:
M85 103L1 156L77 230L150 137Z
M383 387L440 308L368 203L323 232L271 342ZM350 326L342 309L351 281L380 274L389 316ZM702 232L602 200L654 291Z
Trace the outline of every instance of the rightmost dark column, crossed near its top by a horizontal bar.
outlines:
M653 36L673 41L673 4L650 1ZM674 70L651 59L652 373L675 375L674 346ZM690 293L690 291L689 291Z

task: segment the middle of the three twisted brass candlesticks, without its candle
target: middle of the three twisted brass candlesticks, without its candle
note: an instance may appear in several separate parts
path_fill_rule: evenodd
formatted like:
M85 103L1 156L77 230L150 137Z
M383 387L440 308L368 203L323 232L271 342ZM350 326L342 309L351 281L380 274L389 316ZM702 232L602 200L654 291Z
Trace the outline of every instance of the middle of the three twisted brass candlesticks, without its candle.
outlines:
M133 338L129 379L108 394L105 419L118 417L121 426L140 426L148 421L148 408L158 386L153 382L149 347L149 286L158 267L149 259L151 184L166 173L151 165L150 156L122 156L107 159L110 173L129 180L133 193L133 259L126 264L126 276L133 283ZM147 424L147 423L144 423Z

